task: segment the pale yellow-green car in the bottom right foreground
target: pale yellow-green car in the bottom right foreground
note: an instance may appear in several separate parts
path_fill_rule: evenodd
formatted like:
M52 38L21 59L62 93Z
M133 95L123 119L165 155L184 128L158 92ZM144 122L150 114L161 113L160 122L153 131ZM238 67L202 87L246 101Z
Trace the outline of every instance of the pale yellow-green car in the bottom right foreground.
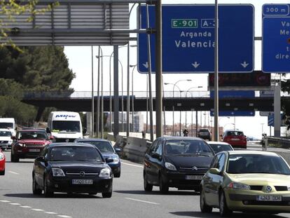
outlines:
M290 212L290 168L272 152L220 152L200 185L202 212Z

